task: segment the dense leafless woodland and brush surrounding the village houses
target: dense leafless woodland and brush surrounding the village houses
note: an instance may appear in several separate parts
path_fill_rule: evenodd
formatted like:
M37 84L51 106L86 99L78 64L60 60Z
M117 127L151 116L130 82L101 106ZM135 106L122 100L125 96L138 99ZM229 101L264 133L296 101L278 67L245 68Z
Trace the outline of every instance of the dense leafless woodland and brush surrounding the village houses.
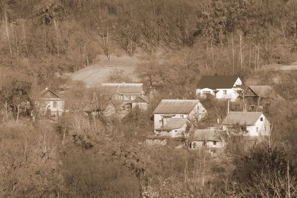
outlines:
M261 70L297 60L297 0L1 0L0 32L0 197L297 197L297 72ZM122 119L85 116L79 107L94 90L59 77L98 54L139 53L148 61L135 75L158 94L147 111ZM213 73L271 85L286 99L265 109L270 138L229 139L215 158L146 146L158 102L195 99L201 75ZM63 91L72 113L33 123L23 103L44 87ZM208 115L199 128L227 114L225 101L202 103Z

